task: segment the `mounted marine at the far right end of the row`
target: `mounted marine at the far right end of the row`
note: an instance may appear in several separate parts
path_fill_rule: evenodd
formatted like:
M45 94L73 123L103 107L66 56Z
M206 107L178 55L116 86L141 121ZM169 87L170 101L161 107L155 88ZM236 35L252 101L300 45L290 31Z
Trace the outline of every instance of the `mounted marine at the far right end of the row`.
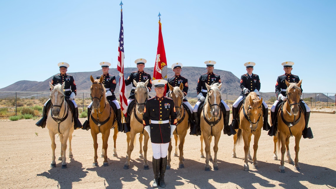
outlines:
M292 70L293 70L293 65L294 62L283 62L281 63L281 65L284 66L284 71L285 74L281 75L278 77L277 79L277 83L275 85L275 93L278 97L278 100L276 100L271 108L271 117L272 117L272 126L268 131L268 135L269 136L274 136L276 131L278 130L278 123L277 123L277 112L278 112L278 104L281 104L282 102L286 102L287 100L287 85L285 83L285 80L287 80L289 83L298 83L300 81L299 76L297 75L293 75L292 74ZM301 85L302 86L302 85ZM301 88L301 92L302 92L302 87ZM313 138L313 134L311 132L311 128L308 127L308 121L309 121L309 116L310 116L310 108L306 105L306 103L303 100L300 100L299 103L301 109L304 112L304 120L305 120L305 127L302 131L302 135L303 138L308 138L308 139L312 139Z

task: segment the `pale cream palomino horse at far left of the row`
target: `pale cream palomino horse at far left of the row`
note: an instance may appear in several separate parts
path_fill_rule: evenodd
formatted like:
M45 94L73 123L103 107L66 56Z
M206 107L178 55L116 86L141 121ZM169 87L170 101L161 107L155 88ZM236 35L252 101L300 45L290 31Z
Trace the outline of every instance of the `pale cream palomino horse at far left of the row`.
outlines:
M69 158L72 158L72 149L71 149L71 139L72 133L74 132L74 122L72 121L72 112L68 106L68 103L65 101L65 96L63 93L65 83L57 84L53 86L49 82L51 92L50 92L50 101L51 109L48 112L46 126L49 130L49 136L51 139L51 164L50 167L56 167L55 162L55 135L59 134L59 141L61 142L61 154L58 157L58 160L62 160L62 168L67 168L66 162L66 150L67 150L67 141L69 138Z

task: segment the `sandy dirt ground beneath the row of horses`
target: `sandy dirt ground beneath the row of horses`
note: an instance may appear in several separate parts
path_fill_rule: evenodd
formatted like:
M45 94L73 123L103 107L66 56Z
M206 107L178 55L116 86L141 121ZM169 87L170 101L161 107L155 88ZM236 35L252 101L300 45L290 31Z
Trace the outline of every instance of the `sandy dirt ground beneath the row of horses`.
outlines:
M231 117L231 116L230 116ZM84 122L84 118L80 119ZM117 139L118 157L113 157L113 138L108 148L109 166L92 166L93 141L89 131L75 130L72 140L74 157L68 158L68 168L61 169L57 160L60 152L56 141L56 167L50 168L51 142L47 128L35 126L36 120L0 121L0 188L152 188L152 147L149 146L149 170L143 169L139 159L139 144L131 154L129 169L123 169L126 162L126 134L119 133ZM336 188L336 114L311 113L309 126L313 139L301 139L300 171L287 162L286 173L279 173L280 160L273 160L273 140L262 131L257 153L258 169L243 170L243 145L237 147L237 158L232 158L233 136L221 135L218 151L218 171L204 171L205 159L200 158L200 137L187 135L184 144L184 166L178 168L178 157L172 157L171 169L166 171L166 188ZM101 139L100 137L98 139ZM138 142L137 142L138 143ZM101 148L101 140L98 141ZM211 145L211 150L212 150ZM252 144L251 144L252 146ZM290 152L295 157L294 138L291 138ZM173 149L174 150L174 149ZM100 150L98 150L100 154ZM251 148L253 154L253 148ZM213 155L213 150L212 150ZM280 153L278 153L279 158ZM212 166L213 162L210 162ZM251 161L250 161L251 163ZM160 187L159 187L160 188Z

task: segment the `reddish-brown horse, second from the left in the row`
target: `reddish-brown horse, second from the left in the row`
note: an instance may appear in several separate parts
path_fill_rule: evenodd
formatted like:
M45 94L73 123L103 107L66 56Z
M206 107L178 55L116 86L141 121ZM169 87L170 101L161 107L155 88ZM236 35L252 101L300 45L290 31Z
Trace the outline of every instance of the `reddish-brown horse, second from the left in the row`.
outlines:
M103 141L102 144L102 155L104 157L103 166L109 166L109 162L107 161L107 148L108 148L108 140L110 136L110 130L113 125L113 121L115 120L115 113L110 107L109 102L105 97L106 89L102 84L103 76L100 79L94 80L92 75L90 76L90 80L92 85L90 87L91 90L91 98L92 98L92 112L90 115L90 127L91 127L91 135L93 139L93 147L94 147L94 162L92 166L98 166L98 155L97 155L97 135L101 133L101 138ZM117 127L117 126L116 126ZM115 133L118 129L114 128ZM116 134L115 134L116 135ZM114 137L117 139L117 137Z

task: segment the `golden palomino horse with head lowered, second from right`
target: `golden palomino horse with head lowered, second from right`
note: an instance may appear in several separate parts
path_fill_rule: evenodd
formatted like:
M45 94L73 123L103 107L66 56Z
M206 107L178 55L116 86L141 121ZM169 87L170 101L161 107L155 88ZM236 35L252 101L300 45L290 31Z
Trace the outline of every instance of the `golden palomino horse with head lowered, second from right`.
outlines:
M263 125L263 114L262 114L262 98L259 99L255 92L250 92L245 102L240 109L239 112L239 129L237 134L234 135L234 147L232 157L236 158L236 144L240 143L244 140L244 151L245 151L245 158L244 158L244 171L249 171L249 164L248 160L253 160L253 168L258 168L257 163L257 150L258 150L258 141L261 134L261 128ZM254 144L253 144L253 159L250 155L250 142L251 136L254 135Z

